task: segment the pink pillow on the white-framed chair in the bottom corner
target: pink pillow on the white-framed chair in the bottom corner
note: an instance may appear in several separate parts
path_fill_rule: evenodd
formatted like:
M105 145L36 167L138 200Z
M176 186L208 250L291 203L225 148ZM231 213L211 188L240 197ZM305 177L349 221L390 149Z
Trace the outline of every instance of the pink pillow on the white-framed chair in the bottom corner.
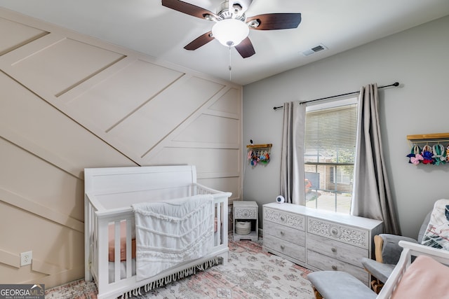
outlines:
M449 267L429 256L418 256L404 272L391 299L448 299Z

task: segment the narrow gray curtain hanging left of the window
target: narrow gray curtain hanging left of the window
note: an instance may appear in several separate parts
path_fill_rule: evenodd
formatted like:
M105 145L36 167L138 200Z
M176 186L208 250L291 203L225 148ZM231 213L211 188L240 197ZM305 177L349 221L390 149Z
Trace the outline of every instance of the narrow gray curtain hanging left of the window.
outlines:
M283 104L280 194L286 202L306 204L304 188L304 132L306 105ZM302 182L302 183L298 183Z

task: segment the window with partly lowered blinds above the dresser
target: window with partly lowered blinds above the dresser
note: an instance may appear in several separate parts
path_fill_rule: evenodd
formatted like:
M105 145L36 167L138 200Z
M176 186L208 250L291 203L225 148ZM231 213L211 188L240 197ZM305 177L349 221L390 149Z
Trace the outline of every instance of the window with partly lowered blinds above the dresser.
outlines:
M307 107L306 206L349 214L356 155L356 98L332 105Z

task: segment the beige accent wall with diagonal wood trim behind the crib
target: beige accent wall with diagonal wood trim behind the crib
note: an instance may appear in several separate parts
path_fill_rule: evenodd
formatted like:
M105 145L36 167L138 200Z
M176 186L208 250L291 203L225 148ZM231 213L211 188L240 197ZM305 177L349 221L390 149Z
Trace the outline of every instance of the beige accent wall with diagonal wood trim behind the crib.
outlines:
M240 197L240 85L2 8L0 36L2 283L83 277L86 167L196 165Z

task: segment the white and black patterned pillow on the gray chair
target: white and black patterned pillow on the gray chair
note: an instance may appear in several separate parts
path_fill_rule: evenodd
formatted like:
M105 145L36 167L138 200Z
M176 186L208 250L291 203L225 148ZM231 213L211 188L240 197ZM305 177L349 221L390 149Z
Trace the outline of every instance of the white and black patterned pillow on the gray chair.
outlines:
M421 244L449 250L449 200L437 200Z

